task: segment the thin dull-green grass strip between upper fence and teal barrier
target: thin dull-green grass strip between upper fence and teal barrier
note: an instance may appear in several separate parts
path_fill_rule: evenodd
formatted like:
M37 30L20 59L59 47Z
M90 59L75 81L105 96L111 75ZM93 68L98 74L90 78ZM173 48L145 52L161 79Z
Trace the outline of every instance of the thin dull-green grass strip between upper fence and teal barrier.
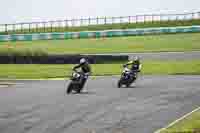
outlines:
M155 21L155 22L139 22L139 23L124 23L124 24L102 24L102 25L90 25L81 27L46 27L44 28L32 28L8 31L8 33L1 32L0 34L21 34L21 33L41 33L41 32L65 32L65 31L97 31L97 30L109 30L109 29L130 29L130 28L149 28L149 27L170 27L170 26L191 26L200 25L200 19L196 20L173 20L173 21Z

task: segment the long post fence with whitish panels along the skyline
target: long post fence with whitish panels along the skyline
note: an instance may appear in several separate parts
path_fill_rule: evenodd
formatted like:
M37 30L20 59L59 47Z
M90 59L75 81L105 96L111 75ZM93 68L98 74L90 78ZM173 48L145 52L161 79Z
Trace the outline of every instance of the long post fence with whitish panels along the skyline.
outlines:
M200 19L200 12L185 14L147 14L121 17L97 17L84 19L57 20L45 22L26 22L14 24L0 24L0 33L33 33L33 32L64 32L69 27L89 25L146 23L161 21L181 21Z

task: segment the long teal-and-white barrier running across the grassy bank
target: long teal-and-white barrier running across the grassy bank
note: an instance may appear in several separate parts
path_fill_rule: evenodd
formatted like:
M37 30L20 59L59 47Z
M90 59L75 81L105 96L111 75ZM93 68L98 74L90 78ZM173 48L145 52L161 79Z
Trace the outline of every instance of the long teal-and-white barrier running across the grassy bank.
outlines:
M161 27L161 28L138 28L124 30L105 30L105 31L83 31L83 32L58 32L58 33L35 33L35 34L12 34L0 35L0 41L32 41L32 40L58 40L76 38L100 38L117 36L136 36L147 34L166 34L166 33L192 33L200 32L200 26L183 27Z

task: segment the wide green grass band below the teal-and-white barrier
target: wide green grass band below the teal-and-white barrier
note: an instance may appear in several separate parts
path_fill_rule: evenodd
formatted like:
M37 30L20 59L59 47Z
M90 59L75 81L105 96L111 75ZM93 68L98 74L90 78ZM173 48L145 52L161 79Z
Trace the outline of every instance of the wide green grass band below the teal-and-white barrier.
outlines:
M0 54L126 53L200 50L200 33L78 40L0 42Z

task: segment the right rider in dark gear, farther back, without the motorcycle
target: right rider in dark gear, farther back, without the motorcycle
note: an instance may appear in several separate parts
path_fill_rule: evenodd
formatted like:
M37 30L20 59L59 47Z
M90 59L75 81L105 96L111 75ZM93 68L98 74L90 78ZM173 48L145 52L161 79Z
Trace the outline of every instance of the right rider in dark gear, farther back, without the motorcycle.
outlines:
M124 64L124 67L131 65L131 72L140 72L142 68L142 64L140 63L140 59L138 56L135 56L133 60L130 60L128 63Z

